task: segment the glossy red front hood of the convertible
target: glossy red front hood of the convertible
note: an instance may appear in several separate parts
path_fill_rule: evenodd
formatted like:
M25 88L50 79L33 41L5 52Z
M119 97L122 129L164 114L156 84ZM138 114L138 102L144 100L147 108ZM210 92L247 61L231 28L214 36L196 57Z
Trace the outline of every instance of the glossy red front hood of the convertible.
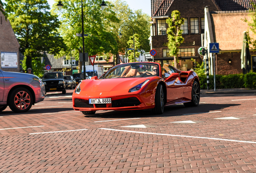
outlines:
M107 94L109 92L117 92L120 91L120 94L128 93L128 91L135 87L136 85L144 82L147 79L151 79L152 77L147 78L111 78L111 79L99 79L99 80L92 80L87 79L83 80L80 87L81 93L84 96L91 96L92 93L104 93ZM115 93L118 95L118 93Z

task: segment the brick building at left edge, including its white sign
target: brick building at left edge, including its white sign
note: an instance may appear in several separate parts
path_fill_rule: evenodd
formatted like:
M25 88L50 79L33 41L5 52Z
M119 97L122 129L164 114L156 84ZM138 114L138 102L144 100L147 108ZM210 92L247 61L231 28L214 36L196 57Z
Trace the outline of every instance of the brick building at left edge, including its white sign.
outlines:
M9 20L0 12L0 69L20 72L19 47Z

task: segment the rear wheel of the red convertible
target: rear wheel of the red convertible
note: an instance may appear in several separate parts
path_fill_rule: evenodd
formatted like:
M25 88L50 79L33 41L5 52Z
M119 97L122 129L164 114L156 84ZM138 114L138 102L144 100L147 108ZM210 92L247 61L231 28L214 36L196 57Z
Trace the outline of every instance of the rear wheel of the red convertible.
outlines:
M191 102L183 103L185 107L196 107L199 105L200 101L200 86L198 82L193 82L193 87L191 91Z

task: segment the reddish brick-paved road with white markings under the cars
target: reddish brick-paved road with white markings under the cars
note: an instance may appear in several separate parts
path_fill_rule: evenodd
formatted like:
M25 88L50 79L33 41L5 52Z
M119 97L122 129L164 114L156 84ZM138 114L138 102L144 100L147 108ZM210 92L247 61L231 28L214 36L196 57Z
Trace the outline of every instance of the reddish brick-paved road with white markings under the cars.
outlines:
M0 172L256 172L253 92L202 93L198 107L168 106L163 115L85 116L71 95L47 93L27 113L0 113ZM140 126L124 127L132 125Z

